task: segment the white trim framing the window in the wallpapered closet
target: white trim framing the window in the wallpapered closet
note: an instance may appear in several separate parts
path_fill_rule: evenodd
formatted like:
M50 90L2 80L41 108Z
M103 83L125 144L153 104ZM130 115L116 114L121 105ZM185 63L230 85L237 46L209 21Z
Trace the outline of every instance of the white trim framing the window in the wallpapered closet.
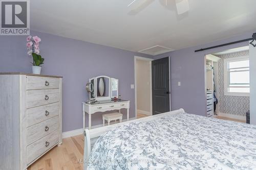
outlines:
M242 56L242 57L235 57L235 58L225 58L224 59L224 95L231 95L231 96L250 96L250 93L245 92L229 92L228 91L228 82L229 77L227 75L228 72L228 62L229 61L244 61L249 60L249 56Z

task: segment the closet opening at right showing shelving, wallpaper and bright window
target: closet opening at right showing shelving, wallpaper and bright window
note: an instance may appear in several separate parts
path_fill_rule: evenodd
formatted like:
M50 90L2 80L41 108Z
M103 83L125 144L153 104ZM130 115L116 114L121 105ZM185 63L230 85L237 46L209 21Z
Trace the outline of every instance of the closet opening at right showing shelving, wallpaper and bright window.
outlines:
M205 56L206 115L246 123L250 110L249 46Z

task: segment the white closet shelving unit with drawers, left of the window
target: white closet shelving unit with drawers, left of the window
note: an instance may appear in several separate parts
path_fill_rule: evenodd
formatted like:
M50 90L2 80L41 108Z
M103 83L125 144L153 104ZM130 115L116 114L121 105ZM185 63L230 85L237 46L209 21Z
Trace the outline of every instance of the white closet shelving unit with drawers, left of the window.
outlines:
M214 115L214 68L218 67L220 58L206 55L205 60L206 116L210 117Z

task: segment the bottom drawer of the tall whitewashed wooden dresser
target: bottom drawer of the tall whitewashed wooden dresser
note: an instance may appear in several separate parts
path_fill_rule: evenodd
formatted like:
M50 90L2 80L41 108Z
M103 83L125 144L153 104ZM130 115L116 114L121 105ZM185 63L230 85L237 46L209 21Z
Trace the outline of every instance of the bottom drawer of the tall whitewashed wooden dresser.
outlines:
M49 150L53 145L59 141L59 131L55 130L47 136L35 141L27 147L28 161L27 164L31 163L41 154Z

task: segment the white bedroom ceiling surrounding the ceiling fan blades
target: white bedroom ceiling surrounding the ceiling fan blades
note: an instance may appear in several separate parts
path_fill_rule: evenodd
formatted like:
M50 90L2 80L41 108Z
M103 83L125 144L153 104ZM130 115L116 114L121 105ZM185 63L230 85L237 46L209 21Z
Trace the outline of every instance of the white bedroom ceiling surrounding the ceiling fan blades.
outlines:
M31 29L138 52L160 45L174 50L256 31L255 0L188 0L177 15L175 0L33 0ZM140 0L138 0L140 1Z

